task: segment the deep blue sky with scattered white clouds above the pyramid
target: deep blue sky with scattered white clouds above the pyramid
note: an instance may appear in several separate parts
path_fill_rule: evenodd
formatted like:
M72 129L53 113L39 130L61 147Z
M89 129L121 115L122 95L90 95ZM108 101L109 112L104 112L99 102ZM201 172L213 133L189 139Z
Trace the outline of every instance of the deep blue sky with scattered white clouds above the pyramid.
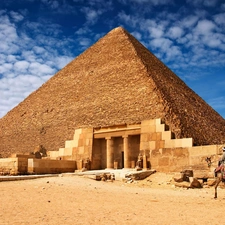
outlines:
M225 118L225 0L1 0L0 117L118 26Z

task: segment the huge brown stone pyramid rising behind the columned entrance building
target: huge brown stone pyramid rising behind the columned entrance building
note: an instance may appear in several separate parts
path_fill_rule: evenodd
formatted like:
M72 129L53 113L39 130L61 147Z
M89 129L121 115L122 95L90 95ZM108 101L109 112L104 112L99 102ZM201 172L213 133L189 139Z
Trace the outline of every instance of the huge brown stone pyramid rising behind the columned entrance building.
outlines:
M0 119L0 154L63 147L78 127L161 118L175 138L225 142L225 120L125 29L76 57Z

